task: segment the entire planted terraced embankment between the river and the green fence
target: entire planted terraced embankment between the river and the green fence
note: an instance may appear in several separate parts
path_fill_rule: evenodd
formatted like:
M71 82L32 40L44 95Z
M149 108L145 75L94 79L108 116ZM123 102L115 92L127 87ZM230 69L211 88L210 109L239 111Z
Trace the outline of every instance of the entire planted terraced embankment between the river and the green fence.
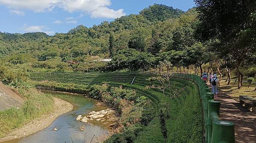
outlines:
M164 133L167 143L201 142L202 115L197 86L191 81L172 79L171 94L177 93L177 97L171 99L169 92L164 97L158 89L145 88L150 85L145 79L151 76L137 73L134 84L130 84L134 78L134 74L130 73L33 73L32 79L37 85L58 90L87 91L87 95L116 108L120 123L126 127L105 143L163 143L164 128L161 129L159 118L161 105L164 105L162 119L166 124ZM169 91L169 87L166 90ZM140 132L127 132L129 126L135 124L140 125Z

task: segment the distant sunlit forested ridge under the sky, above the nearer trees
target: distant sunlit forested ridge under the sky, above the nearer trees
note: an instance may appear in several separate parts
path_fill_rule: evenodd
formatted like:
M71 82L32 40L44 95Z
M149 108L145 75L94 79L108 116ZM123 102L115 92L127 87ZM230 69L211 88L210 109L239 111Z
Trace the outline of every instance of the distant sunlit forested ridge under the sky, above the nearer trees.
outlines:
M184 12L179 9L173 9L169 6L155 4L145 8L140 14L131 14L117 18L112 22L104 21L100 25L94 25L87 28L78 25L68 33L57 33L54 36L47 36L44 33L26 33L26 34L6 34L1 33L1 50L3 56L13 51L17 53L32 53L40 61L55 57L61 57L62 61L71 60L73 57L84 55L109 54L109 36L114 36L114 51L128 48L128 42L131 48L140 47L140 50L146 50L150 45L152 30L157 25L162 25L160 21L180 17ZM141 38L141 39L140 39ZM140 39L140 45L133 45ZM144 48L144 49L143 49Z

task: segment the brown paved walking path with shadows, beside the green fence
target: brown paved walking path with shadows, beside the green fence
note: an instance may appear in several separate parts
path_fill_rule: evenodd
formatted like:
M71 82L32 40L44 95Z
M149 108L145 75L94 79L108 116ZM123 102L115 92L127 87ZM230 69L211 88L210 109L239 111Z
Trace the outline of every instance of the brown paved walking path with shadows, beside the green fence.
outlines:
M214 100L221 102L221 120L235 123L236 143L256 143L256 114L221 90Z

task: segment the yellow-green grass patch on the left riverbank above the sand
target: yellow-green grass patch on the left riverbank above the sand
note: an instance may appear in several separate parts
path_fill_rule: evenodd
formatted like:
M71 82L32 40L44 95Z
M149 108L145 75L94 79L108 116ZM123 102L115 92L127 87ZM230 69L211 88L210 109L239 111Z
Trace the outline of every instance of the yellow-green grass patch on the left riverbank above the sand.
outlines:
M29 90L20 89L19 93L27 98L20 108L12 107L0 111L0 137L4 137L12 129L23 126L28 121L53 110L54 101L50 95L44 95L32 88Z

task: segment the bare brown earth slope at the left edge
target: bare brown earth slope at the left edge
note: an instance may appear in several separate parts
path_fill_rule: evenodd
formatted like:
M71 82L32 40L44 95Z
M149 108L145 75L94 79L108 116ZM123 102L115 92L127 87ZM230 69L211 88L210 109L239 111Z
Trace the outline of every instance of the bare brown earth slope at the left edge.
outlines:
M10 107L20 107L22 103L23 98L0 83L0 110L8 109Z

